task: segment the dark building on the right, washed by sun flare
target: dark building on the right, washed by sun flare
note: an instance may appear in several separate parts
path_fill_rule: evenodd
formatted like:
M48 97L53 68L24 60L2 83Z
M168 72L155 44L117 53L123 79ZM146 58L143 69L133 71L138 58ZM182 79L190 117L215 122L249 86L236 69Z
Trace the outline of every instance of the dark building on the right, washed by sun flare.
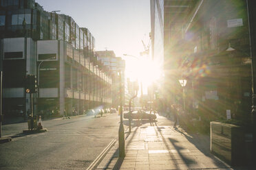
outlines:
M163 110L180 103L206 121L248 122L251 60L246 1L151 0L154 58L163 50ZM162 55L160 55L162 57ZM186 80L180 86L179 80ZM182 95L182 91L184 94ZM160 95L161 96L161 95Z

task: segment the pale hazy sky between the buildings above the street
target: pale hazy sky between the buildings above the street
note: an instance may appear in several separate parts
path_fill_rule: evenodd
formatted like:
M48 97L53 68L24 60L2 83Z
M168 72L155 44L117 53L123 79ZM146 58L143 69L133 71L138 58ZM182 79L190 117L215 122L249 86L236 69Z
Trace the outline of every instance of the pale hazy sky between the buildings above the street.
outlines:
M96 51L113 50L139 56L149 42L149 0L36 0L44 10L61 10L79 27L87 27L96 40Z

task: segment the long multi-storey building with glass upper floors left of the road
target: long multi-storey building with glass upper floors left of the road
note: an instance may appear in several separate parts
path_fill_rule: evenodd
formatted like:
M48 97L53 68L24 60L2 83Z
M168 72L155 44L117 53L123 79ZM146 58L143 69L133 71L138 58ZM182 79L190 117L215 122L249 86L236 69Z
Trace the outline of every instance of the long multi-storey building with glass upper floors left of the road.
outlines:
M2 0L0 32L6 116L30 109L28 74L38 77L33 103L40 114L111 106L111 71L94 55L92 34L71 16L46 12L34 0Z

